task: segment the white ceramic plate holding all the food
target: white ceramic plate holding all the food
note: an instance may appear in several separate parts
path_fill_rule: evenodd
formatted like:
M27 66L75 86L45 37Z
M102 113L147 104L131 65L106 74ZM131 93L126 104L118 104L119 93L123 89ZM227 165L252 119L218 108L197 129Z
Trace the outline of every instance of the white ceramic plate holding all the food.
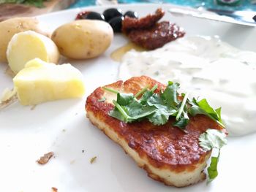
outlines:
M121 9L138 11L140 16L165 10L171 5L120 5ZM102 12L106 7L86 7ZM70 9L39 16L50 30L74 20L80 9ZM198 18L176 18L165 14L183 26L187 35L219 35L231 45L256 51L256 29L218 23ZM84 74L86 96L99 85L116 81L118 63L110 53L127 42L116 35L108 51L99 58L70 62ZM5 74L7 65L0 65L0 91L12 87L12 78ZM241 78L244 74L241 74ZM0 191L253 191L256 172L256 135L229 138L222 149L219 176L187 188L172 188L151 180L143 169L102 131L86 118L83 99L67 99L39 104L34 110L18 102L0 111ZM84 150L84 152L83 152ZM54 158L44 166L36 160L49 151ZM90 159L97 156L94 164Z

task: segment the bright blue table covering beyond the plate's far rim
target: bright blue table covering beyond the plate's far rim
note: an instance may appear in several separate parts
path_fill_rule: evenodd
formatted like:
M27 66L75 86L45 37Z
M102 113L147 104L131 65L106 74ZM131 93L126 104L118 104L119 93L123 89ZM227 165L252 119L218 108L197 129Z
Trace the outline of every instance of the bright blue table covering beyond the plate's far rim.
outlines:
M223 6L218 5L215 0L118 0L119 4L131 4L131 3L170 3L187 7L206 7L214 9L225 10L252 10L256 11L256 4L251 4L252 0L242 0L238 6ZM70 8L85 7L89 5L95 5L96 0L78 0L75 4L72 4Z

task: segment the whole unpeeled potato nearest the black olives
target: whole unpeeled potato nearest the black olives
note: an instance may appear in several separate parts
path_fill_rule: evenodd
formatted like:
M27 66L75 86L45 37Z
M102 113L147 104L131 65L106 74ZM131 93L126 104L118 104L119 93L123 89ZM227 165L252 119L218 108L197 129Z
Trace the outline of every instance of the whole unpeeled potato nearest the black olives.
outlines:
M110 46L113 29L101 20L75 20L57 28L52 39L68 58L94 58Z

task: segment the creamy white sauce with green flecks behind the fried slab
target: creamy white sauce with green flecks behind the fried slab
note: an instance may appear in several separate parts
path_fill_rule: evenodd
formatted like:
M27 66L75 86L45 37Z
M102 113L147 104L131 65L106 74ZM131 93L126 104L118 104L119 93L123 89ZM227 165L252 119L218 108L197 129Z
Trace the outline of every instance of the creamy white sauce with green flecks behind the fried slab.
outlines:
M148 75L181 84L180 92L222 107L232 136L256 131L256 53L238 50L217 37L187 37L148 52L129 51L118 78Z

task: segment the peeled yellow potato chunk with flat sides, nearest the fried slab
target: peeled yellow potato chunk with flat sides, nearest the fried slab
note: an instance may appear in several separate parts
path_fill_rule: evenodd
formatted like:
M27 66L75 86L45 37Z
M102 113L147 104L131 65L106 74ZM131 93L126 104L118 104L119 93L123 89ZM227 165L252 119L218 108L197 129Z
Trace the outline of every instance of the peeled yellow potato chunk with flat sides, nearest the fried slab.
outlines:
M57 99L82 97L83 74L70 64L49 64L35 58L13 78L15 91L23 105Z

